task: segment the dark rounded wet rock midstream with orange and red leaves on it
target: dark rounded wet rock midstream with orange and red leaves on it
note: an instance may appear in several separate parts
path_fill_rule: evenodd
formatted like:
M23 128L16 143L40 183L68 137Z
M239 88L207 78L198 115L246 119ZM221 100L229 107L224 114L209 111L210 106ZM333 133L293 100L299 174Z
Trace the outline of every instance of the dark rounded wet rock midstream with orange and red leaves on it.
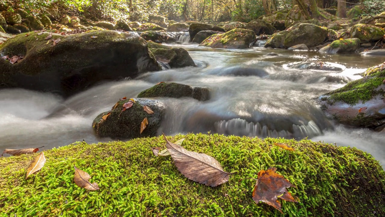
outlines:
M117 102L116 107L114 106L112 110L98 115L92 123L94 132L100 137L122 139L159 135L157 131L161 126L165 105L158 100L142 98L134 98L134 100L135 103L132 104L132 107L127 108L125 111L122 111L123 104L129 102L129 100L121 100ZM144 106L151 108L154 114L148 114L144 111ZM108 117L103 120L102 117L107 114L109 114ZM141 122L144 118L147 118L148 125L141 133Z

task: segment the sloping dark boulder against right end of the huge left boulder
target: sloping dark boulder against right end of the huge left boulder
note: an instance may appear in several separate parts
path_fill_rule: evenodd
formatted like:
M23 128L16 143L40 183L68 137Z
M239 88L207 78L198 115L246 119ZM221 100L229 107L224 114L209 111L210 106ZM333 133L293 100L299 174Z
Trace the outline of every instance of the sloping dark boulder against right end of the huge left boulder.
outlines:
M196 66L190 54L182 47L168 47L154 42L147 43L157 61L168 63L171 68Z

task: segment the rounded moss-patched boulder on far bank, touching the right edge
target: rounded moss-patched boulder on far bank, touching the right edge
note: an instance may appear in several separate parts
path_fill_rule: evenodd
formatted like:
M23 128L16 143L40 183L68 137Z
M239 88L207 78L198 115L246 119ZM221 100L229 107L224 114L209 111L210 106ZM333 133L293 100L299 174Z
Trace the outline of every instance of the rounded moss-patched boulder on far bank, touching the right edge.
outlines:
M377 26L369 24L353 25L350 36L360 39L361 43L378 41L385 35L385 31Z

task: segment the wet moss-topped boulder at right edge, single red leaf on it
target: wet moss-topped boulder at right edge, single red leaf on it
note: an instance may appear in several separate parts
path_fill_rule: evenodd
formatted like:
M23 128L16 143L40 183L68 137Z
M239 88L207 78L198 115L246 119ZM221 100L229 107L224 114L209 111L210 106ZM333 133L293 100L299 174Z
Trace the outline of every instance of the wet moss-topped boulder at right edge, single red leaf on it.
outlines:
M342 124L381 131L385 128L385 63L368 68L363 78L320 97L321 108Z

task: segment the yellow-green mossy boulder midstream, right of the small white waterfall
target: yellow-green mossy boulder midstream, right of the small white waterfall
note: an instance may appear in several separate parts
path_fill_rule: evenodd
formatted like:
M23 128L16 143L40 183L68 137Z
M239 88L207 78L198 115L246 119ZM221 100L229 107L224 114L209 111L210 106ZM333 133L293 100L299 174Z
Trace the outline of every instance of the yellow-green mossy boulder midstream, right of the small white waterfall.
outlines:
M205 39L199 46L227 49L245 49L253 46L255 33L249 29L233 29Z

